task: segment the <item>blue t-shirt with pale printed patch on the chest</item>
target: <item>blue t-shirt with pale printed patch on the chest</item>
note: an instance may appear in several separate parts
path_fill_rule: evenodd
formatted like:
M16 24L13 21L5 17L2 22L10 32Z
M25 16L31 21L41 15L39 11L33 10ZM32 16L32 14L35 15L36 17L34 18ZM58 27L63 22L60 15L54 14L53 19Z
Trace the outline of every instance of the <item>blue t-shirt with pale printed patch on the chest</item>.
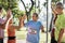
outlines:
M40 31L41 23L30 20L27 24L25 24L25 26L27 27L27 31L28 31L26 40L29 41L30 43L39 43L39 31ZM36 34L29 33L31 30L35 30Z

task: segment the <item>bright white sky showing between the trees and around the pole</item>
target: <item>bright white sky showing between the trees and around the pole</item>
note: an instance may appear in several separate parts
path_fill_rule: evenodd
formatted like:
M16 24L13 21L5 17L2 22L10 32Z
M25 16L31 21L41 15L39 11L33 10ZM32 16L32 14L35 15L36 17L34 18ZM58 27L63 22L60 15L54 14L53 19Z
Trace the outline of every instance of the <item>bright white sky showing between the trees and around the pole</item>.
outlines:
M30 0L23 0L23 1L25 2L25 4L30 3ZM46 27L47 26L47 24L46 24L47 23L47 8L44 8L42 5L42 3L44 3L44 2L46 2L46 0L40 0L40 8L42 8L42 11L39 14L39 16L40 16L39 19L43 24L43 26ZM63 0L61 2L63 2ZM37 2L36 5L38 5L38 2ZM25 9L23 6L23 3L21 1L18 2L18 8L20 8L21 11L25 11ZM51 0L49 0L48 9L49 9L49 13L48 13L49 20L48 20L48 24L50 25L50 20L51 20L51 17L52 17Z

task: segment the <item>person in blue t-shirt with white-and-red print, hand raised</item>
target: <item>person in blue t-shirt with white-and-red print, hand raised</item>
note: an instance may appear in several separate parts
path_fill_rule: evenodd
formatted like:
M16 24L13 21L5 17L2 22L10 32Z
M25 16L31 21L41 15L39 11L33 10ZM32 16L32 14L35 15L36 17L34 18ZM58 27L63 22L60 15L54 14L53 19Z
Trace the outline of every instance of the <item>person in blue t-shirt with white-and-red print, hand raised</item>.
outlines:
M39 32L40 29L42 30L42 32L44 32L43 30L43 26L41 25L41 23L38 20L38 14L34 13L32 14L32 20L29 20L28 23L24 24L24 19L26 16L23 16L22 18L22 26L27 27L27 38L26 38L26 43L39 43Z

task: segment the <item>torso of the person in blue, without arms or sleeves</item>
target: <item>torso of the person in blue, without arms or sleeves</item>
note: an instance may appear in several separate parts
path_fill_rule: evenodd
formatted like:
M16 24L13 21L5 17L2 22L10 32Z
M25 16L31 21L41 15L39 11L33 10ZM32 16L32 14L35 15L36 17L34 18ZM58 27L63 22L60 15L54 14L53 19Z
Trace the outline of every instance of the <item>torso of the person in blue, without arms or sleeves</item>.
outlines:
M40 24L40 22L29 22L29 24L28 24L28 33L27 33L27 40L28 41L32 41L32 39L37 42L37 41L39 41L39 31L40 31L40 26L41 26L41 24ZM29 31L30 31L30 29L32 30L36 30L37 31L37 33L36 34L31 34L31 33L29 33ZM31 39L31 40L30 40Z

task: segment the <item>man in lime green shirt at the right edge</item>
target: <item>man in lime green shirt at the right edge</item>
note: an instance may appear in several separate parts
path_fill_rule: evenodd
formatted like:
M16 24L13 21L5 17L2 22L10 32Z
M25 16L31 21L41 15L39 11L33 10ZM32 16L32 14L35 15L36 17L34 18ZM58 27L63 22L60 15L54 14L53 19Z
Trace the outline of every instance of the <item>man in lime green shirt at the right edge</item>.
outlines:
M55 15L57 15L55 20L55 40L57 43L62 43L62 37L65 30L65 14L63 13L63 4L58 2L55 9Z

